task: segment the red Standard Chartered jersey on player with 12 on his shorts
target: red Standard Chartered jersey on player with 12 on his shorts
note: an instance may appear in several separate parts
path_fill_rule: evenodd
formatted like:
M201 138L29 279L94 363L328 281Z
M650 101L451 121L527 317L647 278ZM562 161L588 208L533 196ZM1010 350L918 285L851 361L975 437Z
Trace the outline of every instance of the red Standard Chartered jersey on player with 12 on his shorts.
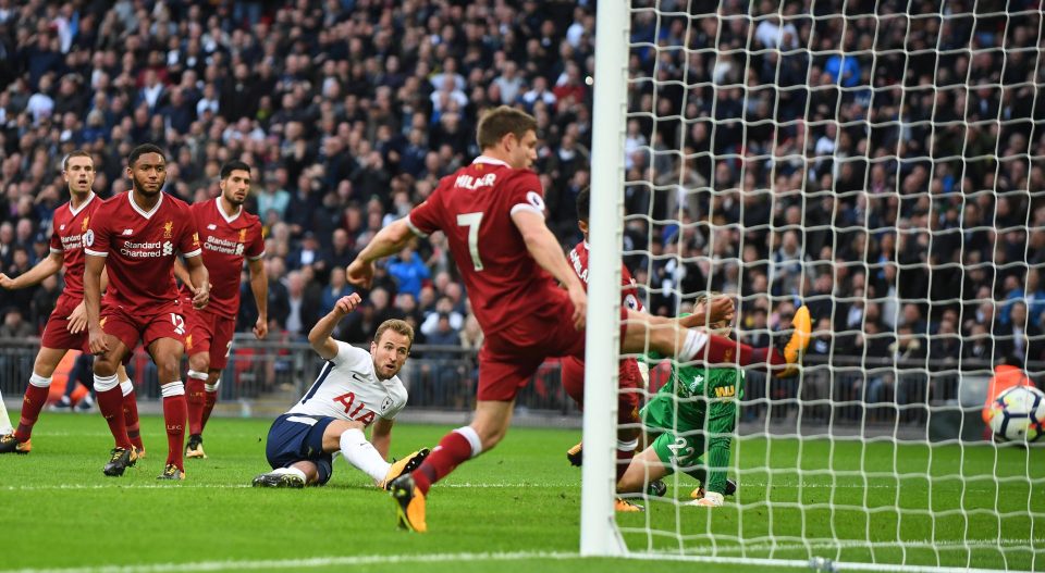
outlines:
M174 258L179 252L199 257L199 236L184 201L161 192L156 207L146 212L131 195L120 194L98 208L84 236L84 250L106 257L106 304L153 314L177 301Z

